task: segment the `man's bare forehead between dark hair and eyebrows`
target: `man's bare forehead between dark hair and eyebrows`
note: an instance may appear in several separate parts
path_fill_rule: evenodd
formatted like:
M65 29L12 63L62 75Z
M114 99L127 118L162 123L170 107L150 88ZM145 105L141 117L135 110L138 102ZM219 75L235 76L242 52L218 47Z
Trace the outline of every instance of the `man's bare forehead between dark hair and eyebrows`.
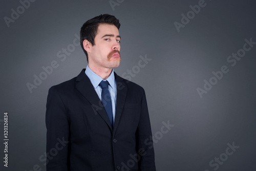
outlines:
M119 31L115 25L99 24L96 36L103 36L105 34L114 34L116 36L119 35Z

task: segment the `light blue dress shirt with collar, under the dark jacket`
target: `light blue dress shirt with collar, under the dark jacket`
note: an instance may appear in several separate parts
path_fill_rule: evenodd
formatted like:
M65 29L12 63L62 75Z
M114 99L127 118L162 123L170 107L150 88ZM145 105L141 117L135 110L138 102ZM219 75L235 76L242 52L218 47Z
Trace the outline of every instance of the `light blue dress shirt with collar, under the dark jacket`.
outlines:
M99 99L101 100L101 92L102 89L99 86L99 83L104 80L102 79L100 76L98 76L97 74L95 74L87 65L86 67L86 75L89 77L91 83L93 84L94 90L96 91L96 93L99 96ZM109 81L109 91L110 91L110 95L111 95L111 102L112 102L112 111L113 111L113 120L115 123L115 115L116 115L116 80L115 80L115 75L114 75L114 70L112 69L112 72L110 74L110 76L106 79L107 81Z

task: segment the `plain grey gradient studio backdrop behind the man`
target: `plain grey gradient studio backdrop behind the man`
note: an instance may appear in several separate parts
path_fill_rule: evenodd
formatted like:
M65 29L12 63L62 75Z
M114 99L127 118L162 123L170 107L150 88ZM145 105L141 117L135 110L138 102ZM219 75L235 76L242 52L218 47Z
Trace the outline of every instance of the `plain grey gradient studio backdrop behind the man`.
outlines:
M120 1L119 1L120 2ZM209 162L225 153L227 143L238 145L218 170L256 169L256 45L231 67L226 61L256 41L255 2L206 0L206 6L180 29L193 1L123 1L115 10L109 1L37 0L8 28L4 17L20 6L1 4L1 170L33 170L46 151L46 98L51 86L77 76L87 66L80 47L61 61L57 52L73 43L86 20L104 13L121 23L120 76L138 65L140 55L152 60L132 78L146 91L153 135L162 122L174 127L154 144L157 170L214 170ZM56 60L58 68L29 92L42 66ZM197 88L212 71L229 72L200 98ZM3 166L3 118L9 113L9 167ZM81 130L82 131L82 130ZM214 162L216 163L216 162ZM100 161L99 161L100 164Z

